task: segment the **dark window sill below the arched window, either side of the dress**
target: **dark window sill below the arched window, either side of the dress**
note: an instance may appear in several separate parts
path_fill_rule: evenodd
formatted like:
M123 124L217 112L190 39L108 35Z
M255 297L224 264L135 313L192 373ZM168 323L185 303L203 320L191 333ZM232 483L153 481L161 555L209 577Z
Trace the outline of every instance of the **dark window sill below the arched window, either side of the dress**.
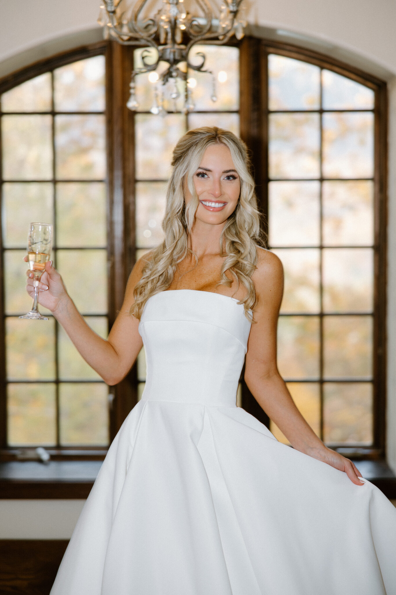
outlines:
M385 461L354 461L363 477L396 499L396 476ZM102 461L0 463L0 499L85 499Z

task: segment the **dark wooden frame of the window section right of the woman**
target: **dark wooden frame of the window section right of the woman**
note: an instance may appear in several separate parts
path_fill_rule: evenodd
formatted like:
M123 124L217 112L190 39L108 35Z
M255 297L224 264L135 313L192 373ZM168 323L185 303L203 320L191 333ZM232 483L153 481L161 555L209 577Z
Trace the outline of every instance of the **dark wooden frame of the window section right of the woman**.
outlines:
M288 43L245 37L240 44L240 136L252 153L258 202L268 220L268 54L278 54L328 68L370 87L375 93L374 129L374 305L373 305L373 445L335 450L354 459L385 458L387 386L387 83L319 52ZM262 131L262 134L259 132ZM244 384L242 406L269 425Z

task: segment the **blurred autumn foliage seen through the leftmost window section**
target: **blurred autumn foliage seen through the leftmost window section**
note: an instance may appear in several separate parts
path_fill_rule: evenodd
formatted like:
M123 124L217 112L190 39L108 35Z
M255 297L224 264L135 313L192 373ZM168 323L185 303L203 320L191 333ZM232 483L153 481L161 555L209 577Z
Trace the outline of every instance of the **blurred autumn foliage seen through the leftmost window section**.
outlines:
M30 221L53 223L53 261L87 323L107 336L104 56L1 96L8 446L107 446L108 388L64 330L19 320ZM45 308L41 308L45 312Z

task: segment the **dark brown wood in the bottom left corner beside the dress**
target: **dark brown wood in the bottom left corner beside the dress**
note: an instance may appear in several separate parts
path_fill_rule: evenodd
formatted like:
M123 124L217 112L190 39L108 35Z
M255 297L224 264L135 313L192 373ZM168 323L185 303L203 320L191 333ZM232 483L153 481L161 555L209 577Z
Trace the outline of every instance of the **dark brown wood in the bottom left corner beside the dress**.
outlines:
M66 540L0 540L0 594L48 595Z

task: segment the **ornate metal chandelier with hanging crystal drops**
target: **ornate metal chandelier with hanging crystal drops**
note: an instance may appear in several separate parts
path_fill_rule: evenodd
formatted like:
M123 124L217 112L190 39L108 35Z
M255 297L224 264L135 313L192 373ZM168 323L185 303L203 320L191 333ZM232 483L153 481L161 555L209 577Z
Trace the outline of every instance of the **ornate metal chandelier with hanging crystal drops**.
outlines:
M173 111L180 97L183 84L183 112L194 111L191 79L188 70L207 73L212 77L211 101L216 102L216 79L213 71L205 68L205 54L197 52L198 64L189 60L189 52L197 43L222 45L234 34L242 39L246 20L241 8L243 0L223 0L220 16L213 18L213 9L209 0L195 0L200 14L190 14L183 0L162 0L161 8L152 16L144 14L148 0L137 0L131 7L128 0L103 0L97 22L103 27L105 39L115 39L122 45L141 46L146 49L141 54L141 67L134 66L129 84L131 94L126 106L137 111L139 104L136 96L135 77L150 73L150 82L157 83L154 90L152 114L164 114L164 96L173 101ZM166 63L166 69L157 72L160 62ZM192 81L195 83L195 80ZM190 84L189 84L190 83ZM162 92L159 92L159 84ZM169 90L170 87L170 90Z

